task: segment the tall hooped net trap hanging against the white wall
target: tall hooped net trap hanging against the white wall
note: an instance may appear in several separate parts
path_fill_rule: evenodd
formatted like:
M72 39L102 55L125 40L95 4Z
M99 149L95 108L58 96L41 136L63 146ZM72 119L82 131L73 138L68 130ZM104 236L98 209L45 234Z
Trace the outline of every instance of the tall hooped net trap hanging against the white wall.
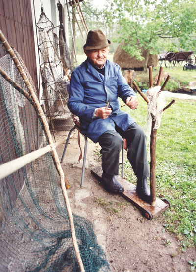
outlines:
M44 113L47 116L53 136L66 135L66 130L73 127L71 113L67 107L69 80L73 70L70 54L65 42L65 31L59 26L59 37L54 33L53 23L44 11L36 24L39 33L41 53L41 75Z

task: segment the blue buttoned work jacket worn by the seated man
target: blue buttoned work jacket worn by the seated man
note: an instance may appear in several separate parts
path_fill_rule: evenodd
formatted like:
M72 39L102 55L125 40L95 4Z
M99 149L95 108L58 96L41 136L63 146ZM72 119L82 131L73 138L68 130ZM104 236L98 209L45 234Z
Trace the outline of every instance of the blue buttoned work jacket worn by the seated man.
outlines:
M136 94L127 84L118 64L107 60L103 76L87 59L72 72L68 108L79 117L82 133L96 143L102 133L115 131L115 123L125 131L135 122L128 113L119 109L118 97L126 103L129 96ZM95 109L106 106L108 99L111 100L111 115L104 120L94 117Z

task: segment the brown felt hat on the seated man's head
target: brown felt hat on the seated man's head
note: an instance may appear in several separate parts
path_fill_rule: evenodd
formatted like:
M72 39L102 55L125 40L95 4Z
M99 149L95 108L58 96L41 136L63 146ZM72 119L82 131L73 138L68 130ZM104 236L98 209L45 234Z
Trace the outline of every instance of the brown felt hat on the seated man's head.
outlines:
M86 50L102 49L109 45L111 45L111 42L106 39L103 32L100 29L96 29L89 31L83 49Z

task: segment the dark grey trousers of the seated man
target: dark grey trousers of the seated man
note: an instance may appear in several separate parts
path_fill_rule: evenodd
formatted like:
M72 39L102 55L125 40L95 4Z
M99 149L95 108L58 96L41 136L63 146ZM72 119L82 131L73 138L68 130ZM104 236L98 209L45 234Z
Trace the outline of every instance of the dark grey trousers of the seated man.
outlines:
M149 177L147 161L146 135L137 123L133 123L126 131L115 126L116 131L103 133L98 142L101 146L102 169L110 175L119 174L119 155L123 147L123 139L127 141L127 159L139 181Z

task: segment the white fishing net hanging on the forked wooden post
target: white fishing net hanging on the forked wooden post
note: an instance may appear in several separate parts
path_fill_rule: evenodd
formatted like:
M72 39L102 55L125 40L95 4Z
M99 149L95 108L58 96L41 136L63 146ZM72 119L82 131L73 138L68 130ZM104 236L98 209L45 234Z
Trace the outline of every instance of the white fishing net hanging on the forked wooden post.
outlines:
M148 109L147 109L147 123L145 126L145 132L147 136L147 154L150 160L150 134L152 129L152 121L154 122L153 129L158 129L161 124L161 118L163 114L163 109L165 106L165 96L161 91L161 86L155 86L150 88L146 92L146 97L148 99Z

